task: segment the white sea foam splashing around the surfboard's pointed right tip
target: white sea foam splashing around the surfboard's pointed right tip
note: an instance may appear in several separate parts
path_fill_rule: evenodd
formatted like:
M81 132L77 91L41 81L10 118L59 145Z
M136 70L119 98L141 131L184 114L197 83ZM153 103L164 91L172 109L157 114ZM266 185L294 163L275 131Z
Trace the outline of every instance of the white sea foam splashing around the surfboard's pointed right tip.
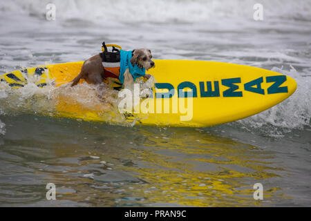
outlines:
M293 77L298 82L295 93L267 111L239 120L238 124L246 128L259 128L262 132L276 137L292 129L311 126L311 77L302 77L294 68L272 70Z

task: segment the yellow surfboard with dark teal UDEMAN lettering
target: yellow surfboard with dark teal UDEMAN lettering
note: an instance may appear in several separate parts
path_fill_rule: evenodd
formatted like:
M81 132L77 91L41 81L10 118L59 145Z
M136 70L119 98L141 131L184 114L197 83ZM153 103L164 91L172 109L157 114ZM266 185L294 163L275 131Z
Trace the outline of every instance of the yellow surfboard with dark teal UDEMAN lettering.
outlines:
M156 126L213 126L265 111L296 90L291 77L271 70L215 61L154 60L148 74L156 78L153 96L141 98L132 110L120 114L126 122ZM13 88L27 84L26 75L40 76L37 86L54 81L55 86L77 76L83 62L53 64L15 70L0 75ZM115 82L116 88L119 87ZM124 95L125 96L125 95ZM58 117L119 123L102 114L102 108L85 109L59 98ZM65 105L66 104L66 105Z

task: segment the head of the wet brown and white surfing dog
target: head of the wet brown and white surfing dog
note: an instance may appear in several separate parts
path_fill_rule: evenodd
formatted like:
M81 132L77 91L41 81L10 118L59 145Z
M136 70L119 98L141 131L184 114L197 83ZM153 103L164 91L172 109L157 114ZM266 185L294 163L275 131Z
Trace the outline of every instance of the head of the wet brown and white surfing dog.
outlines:
M139 68L154 68L154 62L151 60L151 50L147 48L140 48L133 50L133 57L131 58L131 64L134 66L137 64Z

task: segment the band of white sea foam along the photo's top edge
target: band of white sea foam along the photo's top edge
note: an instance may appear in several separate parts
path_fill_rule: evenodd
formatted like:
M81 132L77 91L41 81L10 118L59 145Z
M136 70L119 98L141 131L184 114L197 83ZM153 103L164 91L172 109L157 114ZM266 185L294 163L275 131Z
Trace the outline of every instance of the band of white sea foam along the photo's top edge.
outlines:
M55 3L57 17L92 21L207 21L216 17L252 19L257 0L12 0L1 1L0 10L42 16ZM261 0L265 17L309 18L311 1Z

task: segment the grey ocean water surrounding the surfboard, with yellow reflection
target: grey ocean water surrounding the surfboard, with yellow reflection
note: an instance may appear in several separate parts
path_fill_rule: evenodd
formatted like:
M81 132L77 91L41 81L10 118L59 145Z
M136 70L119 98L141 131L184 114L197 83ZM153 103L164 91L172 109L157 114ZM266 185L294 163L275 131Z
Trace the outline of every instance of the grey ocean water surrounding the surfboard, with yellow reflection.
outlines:
M106 41L156 59L275 70L298 87L237 122L163 128L44 117L50 109L35 100L53 88L1 84L0 206L311 206L311 1L261 1L263 21L255 3L1 1L1 74L82 61ZM46 200L48 183L56 200Z

